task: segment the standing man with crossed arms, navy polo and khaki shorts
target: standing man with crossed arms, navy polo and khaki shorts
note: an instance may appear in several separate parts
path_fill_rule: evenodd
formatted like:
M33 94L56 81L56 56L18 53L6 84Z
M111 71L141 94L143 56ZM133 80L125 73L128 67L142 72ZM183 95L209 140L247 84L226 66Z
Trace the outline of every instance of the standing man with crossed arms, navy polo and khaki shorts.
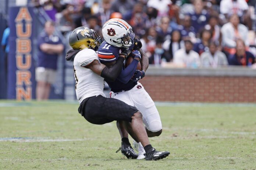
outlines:
M38 37L38 67L36 68L36 99L49 98L51 84L55 82L58 54L64 46L58 36L53 34L55 29L52 21L45 23L45 29Z

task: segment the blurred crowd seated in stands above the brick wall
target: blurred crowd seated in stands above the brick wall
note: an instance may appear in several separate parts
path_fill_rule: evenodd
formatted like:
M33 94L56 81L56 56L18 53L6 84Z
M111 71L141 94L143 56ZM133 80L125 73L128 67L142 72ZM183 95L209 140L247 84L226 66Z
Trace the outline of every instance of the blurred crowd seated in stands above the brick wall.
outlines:
M68 38L86 26L101 35L121 18L140 37L150 64L255 67L256 0L34 0Z

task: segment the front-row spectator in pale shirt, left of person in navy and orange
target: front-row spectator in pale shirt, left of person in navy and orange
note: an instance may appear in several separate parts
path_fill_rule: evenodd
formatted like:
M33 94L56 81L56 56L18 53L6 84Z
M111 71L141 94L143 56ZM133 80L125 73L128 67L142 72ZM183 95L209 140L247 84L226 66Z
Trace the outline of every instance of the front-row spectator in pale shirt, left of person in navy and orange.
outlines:
M218 44L214 41L210 42L209 51L203 52L200 57L203 67L217 68L228 65L226 55L218 50Z

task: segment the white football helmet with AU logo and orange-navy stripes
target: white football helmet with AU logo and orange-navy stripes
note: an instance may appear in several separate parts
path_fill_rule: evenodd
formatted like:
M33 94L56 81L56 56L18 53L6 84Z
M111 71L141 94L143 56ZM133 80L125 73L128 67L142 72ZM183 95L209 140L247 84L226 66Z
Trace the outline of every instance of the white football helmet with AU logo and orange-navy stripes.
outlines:
M112 18L104 23L102 35L105 41L115 47L131 47L134 44L132 27L122 19Z

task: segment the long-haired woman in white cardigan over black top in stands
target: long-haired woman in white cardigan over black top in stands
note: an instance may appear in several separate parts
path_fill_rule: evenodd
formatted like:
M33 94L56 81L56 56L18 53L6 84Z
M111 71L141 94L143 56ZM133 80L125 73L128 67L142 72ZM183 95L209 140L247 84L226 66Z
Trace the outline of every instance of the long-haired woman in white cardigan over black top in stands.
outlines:
M171 33L171 40L164 41L163 48L165 50L166 57L173 60L173 56L177 50L184 47L184 42L181 40L181 32L174 30Z

